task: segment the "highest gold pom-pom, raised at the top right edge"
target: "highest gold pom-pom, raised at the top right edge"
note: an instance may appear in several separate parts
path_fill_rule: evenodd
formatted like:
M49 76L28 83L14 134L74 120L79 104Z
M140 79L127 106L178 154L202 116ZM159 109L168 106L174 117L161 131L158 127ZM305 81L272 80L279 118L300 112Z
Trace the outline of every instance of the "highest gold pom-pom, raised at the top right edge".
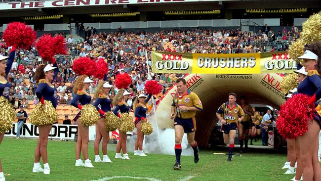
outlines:
M305 44L321 41L321 12L311 15L302 24L301 37Z

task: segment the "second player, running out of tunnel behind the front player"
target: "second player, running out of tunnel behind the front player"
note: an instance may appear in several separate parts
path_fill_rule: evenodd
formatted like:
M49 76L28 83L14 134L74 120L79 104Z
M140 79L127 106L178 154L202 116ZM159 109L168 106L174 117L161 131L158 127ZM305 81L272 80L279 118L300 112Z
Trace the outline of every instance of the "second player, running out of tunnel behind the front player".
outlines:
M232 161L232 154L234 149L234 139L238 129L238 123L244 119L244 112L236 101L237 94L234 92L229 93L229 101L223 103L217 110L216 116L222 122L221 130L223 133L224 142L229 144L229 156L227 161ZM239 118L241 116L241 118Z

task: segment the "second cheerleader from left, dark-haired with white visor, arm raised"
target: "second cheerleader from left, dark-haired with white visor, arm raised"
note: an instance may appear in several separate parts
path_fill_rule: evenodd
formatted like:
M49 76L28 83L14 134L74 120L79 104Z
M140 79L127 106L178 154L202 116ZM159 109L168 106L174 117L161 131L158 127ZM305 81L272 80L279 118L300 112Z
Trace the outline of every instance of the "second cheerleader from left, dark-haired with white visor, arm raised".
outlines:
M38 84L36 95L40 100L41 105L44 106L44 100L48 100L52 103L53 108L56 108L57 89L52 85L52 82L55 80L59 70L55 59L52 60L52 63L53 67L50 64L41 64L36 70L34 79ZM35 150L34 168L32 169L33 173L43 172L43 174L50 174L47 157L47 143L52 124L52 121L48 120L48 124L38 126L39 138ZM44 169L40 166L40 157L42 157Z

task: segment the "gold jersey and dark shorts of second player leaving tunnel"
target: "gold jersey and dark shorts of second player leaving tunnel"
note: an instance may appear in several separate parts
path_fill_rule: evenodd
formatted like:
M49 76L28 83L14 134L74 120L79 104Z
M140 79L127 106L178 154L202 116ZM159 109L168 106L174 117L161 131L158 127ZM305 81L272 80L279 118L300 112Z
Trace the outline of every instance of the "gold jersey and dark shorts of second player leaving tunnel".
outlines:
M236 130L238 128L238 117L245 116L243 109L236 102L233 107L230 107L229 102L223 103L218 108L217 113L221 114L226 121L226 124L222 125L222 130L225 134L229 134L230 130Z

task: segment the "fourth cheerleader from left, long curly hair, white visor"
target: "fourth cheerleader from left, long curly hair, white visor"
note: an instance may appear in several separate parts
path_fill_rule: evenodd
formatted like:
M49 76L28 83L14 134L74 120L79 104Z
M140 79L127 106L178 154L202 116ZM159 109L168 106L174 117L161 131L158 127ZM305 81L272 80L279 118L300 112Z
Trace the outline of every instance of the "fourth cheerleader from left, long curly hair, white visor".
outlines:
M110 88L112 88L108 82L101 81L96 89L95 96L97 97L97 100L93 104L98 112L100 113L100 119L96 124L96 139L94 143L94 149L95 149L95 162L108 162L113 163L108 155L107 155L107 144L109 141L109 132L105 129L105 118L104 115L106 112L111 111L111 100L109 97L109 91ZM101 106L101 108L98 107L98 105ZM101 141L101 138L103 138L103 142L101 145L101 149L103 150L103 160L100 159L99 156L99 143Z

